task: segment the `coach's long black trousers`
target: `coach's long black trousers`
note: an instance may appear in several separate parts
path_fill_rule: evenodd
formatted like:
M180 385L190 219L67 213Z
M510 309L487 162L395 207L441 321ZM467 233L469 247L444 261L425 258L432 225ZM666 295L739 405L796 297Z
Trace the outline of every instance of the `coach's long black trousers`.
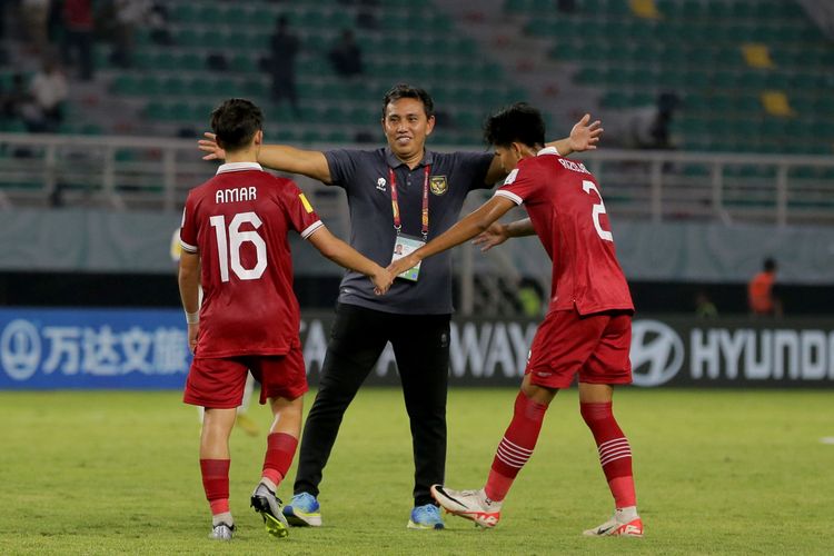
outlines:
M443 484L446 465L449 315L395 315L345 304L336 308L318 394L304 426L295 494L318 496L345 410L388 341L411 425L415 505L433 502L429 487Z

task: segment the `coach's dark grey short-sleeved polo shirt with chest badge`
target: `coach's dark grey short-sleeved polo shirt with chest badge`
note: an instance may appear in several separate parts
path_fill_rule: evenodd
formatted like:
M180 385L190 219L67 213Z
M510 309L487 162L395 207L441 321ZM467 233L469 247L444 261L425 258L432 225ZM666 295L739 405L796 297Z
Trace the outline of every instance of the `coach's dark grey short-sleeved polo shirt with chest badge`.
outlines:
M344 187L350 207L350 245L383 267L391 261L394 228L388 169L397 180L403 234L421 237L425 167L430 167L428 239L448 230L460 216L466 195L489 189L485 183L492 152L433 152L409 170L390 148L331 150L325 152L332 185ZM445 179L444 179L445 178ZM423 261L419 280L397 278L385 296L374 295L374 284L349 271L341 280L339 302L404 315L451 314L451 254L445 251Z

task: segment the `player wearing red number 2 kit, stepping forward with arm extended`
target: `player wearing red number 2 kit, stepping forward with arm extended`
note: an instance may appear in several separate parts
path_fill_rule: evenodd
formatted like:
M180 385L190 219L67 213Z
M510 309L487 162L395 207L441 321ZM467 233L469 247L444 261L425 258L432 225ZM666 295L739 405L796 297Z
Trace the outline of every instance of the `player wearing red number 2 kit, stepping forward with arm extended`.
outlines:
M643 536L632 475L632 450L612 413L613 386L629 384L628 350L634 306L614 252L599 186L585 166L544 148L545 125L535 108L517 103L490 117L485 139L495 146L504 186L475 212L388 269L395 276L424 258L478 236L484 250L507 238L536 234L553 260L553 289L545 320L533 340L513 420L484 488L431 487L455 515L494 527L518 471L533 455L553 398L579 378L579 409L599 451L614 496L614 516L589 536ZM528 219L496 224L524 205Z

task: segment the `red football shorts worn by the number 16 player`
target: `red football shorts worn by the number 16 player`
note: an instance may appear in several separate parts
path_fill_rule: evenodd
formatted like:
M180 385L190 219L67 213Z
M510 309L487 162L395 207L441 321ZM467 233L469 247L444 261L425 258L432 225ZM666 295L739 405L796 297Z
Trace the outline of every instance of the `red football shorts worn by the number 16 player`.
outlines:
M260 383L261 404L267 398L295 399L308 389L301 349L296 347L281 356L195 357L182 400L217 409L238 407L250 371Z

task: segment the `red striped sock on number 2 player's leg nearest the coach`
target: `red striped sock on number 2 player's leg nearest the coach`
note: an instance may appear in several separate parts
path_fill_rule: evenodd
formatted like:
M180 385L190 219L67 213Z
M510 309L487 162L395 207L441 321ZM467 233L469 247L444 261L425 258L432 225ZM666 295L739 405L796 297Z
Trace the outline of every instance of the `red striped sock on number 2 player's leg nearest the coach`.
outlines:
M484 487L487 498L500 502L507 496L518 471L533 455L545 411L545 404L533 401L523 391L518 393L513 420L498 445L489 478Z

